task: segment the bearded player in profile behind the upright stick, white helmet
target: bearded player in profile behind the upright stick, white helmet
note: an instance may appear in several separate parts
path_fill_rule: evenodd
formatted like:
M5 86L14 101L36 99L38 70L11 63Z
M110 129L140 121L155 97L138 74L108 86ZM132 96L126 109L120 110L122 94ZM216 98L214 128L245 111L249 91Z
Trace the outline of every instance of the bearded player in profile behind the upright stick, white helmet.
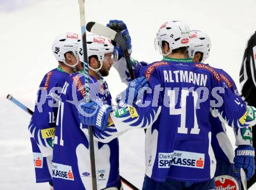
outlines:
M89 87L91 101L111 107L111 94L102 76L108 76L115 56L108 38L87 35ZM52 160L54 189L92 189L88 126L79 119L79 104L85 101L84 72L67 77L61 94ZM108 110L108 109L106 109ZM80 110L81 112L81 110ZM81 112L83 114L83 112ZM94 128L94 154L98 189L122 189L119 177L118 138ZM105 138L108 139L105 139Z

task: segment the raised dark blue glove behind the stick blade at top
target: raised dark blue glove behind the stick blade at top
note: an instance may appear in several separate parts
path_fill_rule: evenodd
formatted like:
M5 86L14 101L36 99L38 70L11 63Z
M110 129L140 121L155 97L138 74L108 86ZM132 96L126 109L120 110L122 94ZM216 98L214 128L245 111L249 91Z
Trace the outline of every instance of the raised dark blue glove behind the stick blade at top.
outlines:
M131 37L130 37L129 31L127 30L126 24L122 20L109 20L109 23L106 24L106 26L111 28L112 30L115 30L116 32L120 32L120 34L123 37L125 37L126 47L130 55L131 54ZM115 46L115 49L118 50L119 59L121 57L124 57L121 46L119 44L116 44L115 42L112 42L112 43Z

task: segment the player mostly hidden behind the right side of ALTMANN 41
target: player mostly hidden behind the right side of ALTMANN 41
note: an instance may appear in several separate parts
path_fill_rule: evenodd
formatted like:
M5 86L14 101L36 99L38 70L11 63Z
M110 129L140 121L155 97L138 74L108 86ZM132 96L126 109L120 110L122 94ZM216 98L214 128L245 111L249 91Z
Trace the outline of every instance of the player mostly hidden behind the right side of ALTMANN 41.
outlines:
M189 56L193 59L193 62L204 62L209 56L211 40L208 35L202 31L193 30L190 32L191 42L189 47ZM227 87L229 87L232 92L240 98L236 84L231 76L221 69L216 68L215 70L221 75L223 81L226 82ZM216 158L216 189L228 187L240 189L240 167L246 171L247 180L253 176L255 170L254 154L238 154L239 151L244 148L254 152L254 148L251 145L251 127L240 129L234 128L237 146L235 150L236 155L234 157L233 147L229 137L227 136L225 124L218 118L214 118L211 115L209 121L212 125L212 149Z

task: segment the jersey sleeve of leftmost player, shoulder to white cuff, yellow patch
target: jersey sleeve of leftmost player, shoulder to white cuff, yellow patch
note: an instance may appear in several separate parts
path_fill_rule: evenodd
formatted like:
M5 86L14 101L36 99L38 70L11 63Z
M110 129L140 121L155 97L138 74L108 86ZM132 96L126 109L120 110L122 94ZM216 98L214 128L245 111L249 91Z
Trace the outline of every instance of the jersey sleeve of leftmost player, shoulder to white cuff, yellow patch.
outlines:
M49 71L42 79L37 92L37 101L35 101L29 131L43 156L52 155L52 138L55 133L59 95L67 76L69 74L59 68Z

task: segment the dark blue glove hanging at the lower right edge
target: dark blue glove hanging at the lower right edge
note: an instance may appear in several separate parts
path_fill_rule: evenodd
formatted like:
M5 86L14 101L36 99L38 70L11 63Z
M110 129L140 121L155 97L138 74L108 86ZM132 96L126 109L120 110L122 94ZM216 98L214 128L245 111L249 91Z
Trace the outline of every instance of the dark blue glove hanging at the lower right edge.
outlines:
M240 145L234 151L235 176L241 180L240 168L246 172L247 181L253 176L255 171L254 148L250 145Z

